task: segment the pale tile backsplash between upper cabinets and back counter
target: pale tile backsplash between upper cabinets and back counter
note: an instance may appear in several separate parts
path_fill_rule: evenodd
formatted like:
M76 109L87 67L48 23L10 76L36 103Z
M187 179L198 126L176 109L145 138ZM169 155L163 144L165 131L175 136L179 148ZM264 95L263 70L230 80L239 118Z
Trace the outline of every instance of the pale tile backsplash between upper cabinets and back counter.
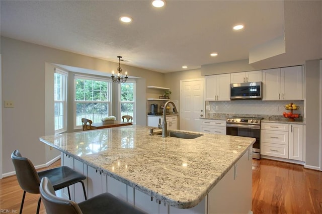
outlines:
M301 114L304 117L303 100L263 101L263 100L231 100L231 101L206 101L206 115L212 113L224 114L255 114L255 115L282 115L284 106L290 102L299 106L299 110L293 113ZM207 107L207 105L209 107Z

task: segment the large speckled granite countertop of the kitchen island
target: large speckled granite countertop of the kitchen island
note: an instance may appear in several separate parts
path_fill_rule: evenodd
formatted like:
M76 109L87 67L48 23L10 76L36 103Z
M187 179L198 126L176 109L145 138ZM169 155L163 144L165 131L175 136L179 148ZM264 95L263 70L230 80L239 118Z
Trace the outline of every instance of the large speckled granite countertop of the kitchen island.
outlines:
M44 136L40 141L178 208L197 205L255 142L207 133L196 133L203 135L196 139L148 133L149 127L132 125Z

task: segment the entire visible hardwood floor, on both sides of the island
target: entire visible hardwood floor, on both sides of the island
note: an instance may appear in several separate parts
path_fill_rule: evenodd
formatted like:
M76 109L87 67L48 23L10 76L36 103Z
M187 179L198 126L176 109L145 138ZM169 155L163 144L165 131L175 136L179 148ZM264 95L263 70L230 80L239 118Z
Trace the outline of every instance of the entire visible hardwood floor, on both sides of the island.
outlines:
M60 160L48 168L60 165ZM23 191L16 176L0 179L0 210L19 212ZM39 194L26 194L23 213L35 213ZM16 211L17 210L17 211ZM253 159L253 206L259 213L322 213L322 172L301 165ZM46 213L44 205L40 213Z

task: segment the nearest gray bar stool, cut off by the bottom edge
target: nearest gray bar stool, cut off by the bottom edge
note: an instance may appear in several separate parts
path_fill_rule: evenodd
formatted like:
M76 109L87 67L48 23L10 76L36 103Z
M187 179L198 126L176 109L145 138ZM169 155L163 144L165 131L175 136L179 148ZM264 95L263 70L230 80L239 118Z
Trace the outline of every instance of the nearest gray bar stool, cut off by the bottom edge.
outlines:
M47 214L142 214L141 210L118 199L110 193L102 193L80 203L57 197L50 180L43 177L39 186Z

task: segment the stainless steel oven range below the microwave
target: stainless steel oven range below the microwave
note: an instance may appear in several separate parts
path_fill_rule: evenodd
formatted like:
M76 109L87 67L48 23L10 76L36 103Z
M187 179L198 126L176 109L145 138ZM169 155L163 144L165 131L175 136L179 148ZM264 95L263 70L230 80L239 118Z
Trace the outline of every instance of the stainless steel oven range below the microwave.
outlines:
M256 138L253 158L260 159L261 120L263 118L232 117L226 119L226 135Z

